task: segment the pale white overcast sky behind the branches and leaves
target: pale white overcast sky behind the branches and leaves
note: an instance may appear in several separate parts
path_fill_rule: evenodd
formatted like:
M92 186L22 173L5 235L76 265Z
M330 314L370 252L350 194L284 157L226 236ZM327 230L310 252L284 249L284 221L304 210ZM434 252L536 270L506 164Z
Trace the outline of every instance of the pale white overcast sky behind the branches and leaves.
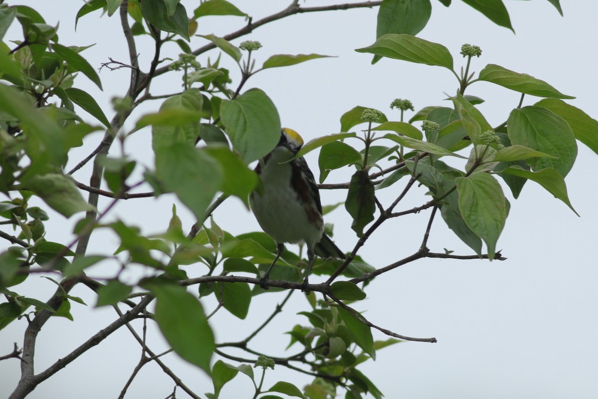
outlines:
M75 14L82 2L60 2L60 6L58 2L46 0L25 3L40 11L47 23L60 22L62 44L96 43L83 53L94 67L99 67L108 57L127 62L117 16L99 19L99 12L89 14L80 20L75 34ZM183 2L190 14L198 3ZM286 1L235 3L254 20L286 7ZM431 20L419 36L449 48L457 66L463 63L459 56L460 45L479 45L483 55L472 61L472 70L480 71L487 63L496 63L533 75L563 93L576 96L577 99L570 103L598 118L594 51L598 39L598 3L594 0L563 0L565 17L560 17L546 0L506 3L516 35L494 25L458 0L454 0L449 8L432 0ZM301 4L309 7L322 3L307 1ZM340 115L356 105L378 108L386 112L390 120L398 119L398 113L388 108L395 98L410 99L416 110L427 105L450 106L443 102L446 98L443 92L454 93L457 84L446 69L389 59L372 66L370 54L353 51L373 43L376 14L376 9L362 9L292 16L233 41L234 44L245 39L261 41L263 48L255 53L258 65L271 54L279 53L338 56L260 72L245 88L263 89L276 104L283 126L297 130L306 141L339 132ZM197 33L224 35L240 28L243 19L207 17L201 23ZM20 35L20 28L15 25L5 40L22 39ZM193 38L191 47L197 48L204 43L204 39ZM152 56L151 42L139 40L138 51L142 65L148 65ZM163 56L175 57L179 52L177 48L167 47ZM213 60L217 53L211 51L200 57L203 65L207 55ZM238 71L227 56L222 57L222 64L230 67L234 79L238 78ZM110 109L109 99L124 95L128 75L123 69L103 70L100 78L103 92L83 76L78 77L75 86L89 90L100 105ZM178 75L167 74L152 84L152 93L177 92L179 85ZM519 99L518 93L490 83L474 84L468 93L487 100L479 108L493 126L507 118ZM524 104L531 105L537 100L526 97ZM156 109L158 105L148 104L144 106L144 112ZM129 126L138 116L135 114L130 118ZM125 147L127 153L147 166L152 165L150 137L149 130L138 132ZM84 148L71 156L71 165L83 159L100 138L101 133L89 136ZM309 154L307 159L318 175L317 153ZM576 164L566 179L570 200L581 218L533 182L526 184L518 200L512 199L504 185L505 194L511 201L511 212L498 248L502 249L507 261L420 260L386 273L368 285L368 299L356 307L367 310L365 315L370 321L407 336L438 339L435 344L406 342L383 349L379 351L377 361L361 367L386 397L596 397L598 345L594 336L598 333L595 310L598 264L594 252L598 190L594 170L597 160L596 154L580 143ZM88 176L89 169L86 168L74 177L87 182ZM344 182L349 176L350 170L345 168L332 172L327 182ZM383 203L392 201L400 188L390 190L381 194ZM399 209L421 205L429 199L424 196L425 191L423 188L413 190ZM344 195L341 191L324 191L322 202L338 202ZM111 217L124 218L148 234L161 232L166 229L172 202L172 196L130 200L120 203ZM106 202L100 202L100 209L105 205ZM179 214L184 229L188 230L194 222L193 217L182 206L179 206ZM218 209L215 219L233 234L259 229L251 213L234 199ZM422 213L388 223L371 237L361 255L373 266L383 267L412 254L420 245L427 221L428 213ZM343 251L352 249L356 237L350 229L351 221L346 211L337 209L327 216L327 222L335 224L337 245ZM65 242L65 236L72 231L71 223L52 213L47 224L47 239ZM118 246L114 236L103 232L94 233L91 241L90 254L112 252ZM5 242L0 245L2 248L7 246ZM447 248L457 254L471 254L444 226L441 218L432 229L428 246L434 252ZM200 270L194 272L191 268L190 275L203 273L201 266L196 267ZM115 269L110 268L91 269L90 274L109 277L114 272ZM133 273L130 278L134 278ZM54 288L46 279L31 276L27 284L15 289L20 294L47 300ZM88 304L95 303L93 293L87 288L77 287L72 294L83 297ZM245 321L239 321L225 310L216 313L212 319L216 339L225 342L245 336L246 331L259 325L280 300L282 294L257 297ZM204 304L208 311L215 306L213 301ZM294 353L292 350L297 348L283 352L288 336L282 333L297 323L307 325L306 318L295 315L301 310L307 310L307 303L300 293L296 293L270 330L252 342L252 348L277 356ZM76 303L72 305L72 313L75 322L53 318L39 334L37 372L68 354L116 317L112 309L93 309ZM140 324L136 325L140 327ZM24 329L25 321L20 321L0 331L0 355L11 351L13 342L21 345ZM377 331L374 338L386 339ZM148 343L155 352L165 348L155 329L149 331ZM123 328L39 385L30 397L117 397L140 355L138 344ZM164 361L198 394L213 390L202 371L178 360L176 355L168 355ZM16 360L0 363L0 397L12 391L18 378ZM309 377L277 367L267 374L265 386L283 379L298 386L310 381ZM169 377L151 364L141 371L127 397L163 398L172 391L172 385ZM225 386L221 397L249 397L249 389L249 380L240 375ZM177 397L187 396L179 390Z

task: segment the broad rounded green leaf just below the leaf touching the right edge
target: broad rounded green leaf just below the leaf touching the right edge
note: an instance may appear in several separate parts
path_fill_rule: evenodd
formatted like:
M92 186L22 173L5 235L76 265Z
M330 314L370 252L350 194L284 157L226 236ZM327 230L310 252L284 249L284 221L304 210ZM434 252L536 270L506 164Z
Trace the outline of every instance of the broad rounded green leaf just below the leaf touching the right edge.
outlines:
M556 157L527 160L533 170L553 167L563 177L569 173L577 156L577 143L573 131L563 118L546 108L524 106L513 109L507 126L512 144Z

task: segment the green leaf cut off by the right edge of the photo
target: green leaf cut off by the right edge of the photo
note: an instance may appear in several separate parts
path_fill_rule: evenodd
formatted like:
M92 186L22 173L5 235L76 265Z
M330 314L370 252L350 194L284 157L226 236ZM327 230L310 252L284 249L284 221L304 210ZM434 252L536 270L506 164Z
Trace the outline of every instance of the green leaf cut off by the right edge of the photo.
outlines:
M579 108L569 105L563 100L545 98L535 103L535 106L541 106L563 118L571 130L575 138L587 145L590 150L598 154L598 121L591 118Z

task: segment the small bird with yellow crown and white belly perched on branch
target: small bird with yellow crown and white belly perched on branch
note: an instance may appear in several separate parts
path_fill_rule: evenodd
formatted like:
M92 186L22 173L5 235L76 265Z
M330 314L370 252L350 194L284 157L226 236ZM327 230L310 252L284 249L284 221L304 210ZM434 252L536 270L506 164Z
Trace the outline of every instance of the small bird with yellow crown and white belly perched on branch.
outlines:
M276 257L260 279L268 287L271 270L285 249L285 243L305 243L309 261L301 291L309 294L309 273L315 256L340 258L345 255L324 233L320 193L312 170L303 157L293 159L303 146L295 130L283 128L280 140L255 166L263 182L263 193L254 191L250 203L260 227L276 242Z

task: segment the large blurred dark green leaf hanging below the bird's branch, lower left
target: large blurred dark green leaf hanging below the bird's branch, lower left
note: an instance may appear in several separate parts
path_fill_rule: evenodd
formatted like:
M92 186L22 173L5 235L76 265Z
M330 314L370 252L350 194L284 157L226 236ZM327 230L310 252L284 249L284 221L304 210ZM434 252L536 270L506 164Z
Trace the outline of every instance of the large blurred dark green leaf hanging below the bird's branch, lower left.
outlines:
M145 280L139 285L156 297L154 319L172 349L209 374L214 335L199 300L185 288L158 279Z

